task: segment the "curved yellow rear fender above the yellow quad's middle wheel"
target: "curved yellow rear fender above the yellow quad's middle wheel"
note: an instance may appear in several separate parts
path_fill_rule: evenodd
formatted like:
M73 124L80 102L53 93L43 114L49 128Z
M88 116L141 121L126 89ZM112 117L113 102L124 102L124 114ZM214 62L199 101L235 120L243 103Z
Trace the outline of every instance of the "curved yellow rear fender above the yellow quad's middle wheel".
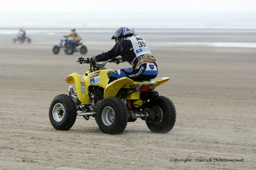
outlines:
M122 77L122 78L118 78L115 81L112 81L111 83L109 83L106 87L106 89L104 90L104 98L106 97L110 97L110 96L116 96L116 94L118 93L118 91L127 83L133 83L134 81L126 78L126 77Z

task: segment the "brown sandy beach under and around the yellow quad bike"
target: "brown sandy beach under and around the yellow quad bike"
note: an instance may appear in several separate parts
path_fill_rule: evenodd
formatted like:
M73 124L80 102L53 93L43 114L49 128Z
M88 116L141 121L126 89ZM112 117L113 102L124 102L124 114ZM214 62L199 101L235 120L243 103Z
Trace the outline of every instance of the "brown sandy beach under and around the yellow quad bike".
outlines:
M31 44L13 45L6 37L0 42L0 169L256 168L256 48L157 45L149 38L157 77L171 78L156 90L175 104L176 124L155 134L136 120L113 136L94 118L77 117L70 131L56 131L49 122L52 99L67 94L65 78L89 68L76 64L80 53L53 55L58 39L33 41L32 35ZM86 56L113 44L91 38Z

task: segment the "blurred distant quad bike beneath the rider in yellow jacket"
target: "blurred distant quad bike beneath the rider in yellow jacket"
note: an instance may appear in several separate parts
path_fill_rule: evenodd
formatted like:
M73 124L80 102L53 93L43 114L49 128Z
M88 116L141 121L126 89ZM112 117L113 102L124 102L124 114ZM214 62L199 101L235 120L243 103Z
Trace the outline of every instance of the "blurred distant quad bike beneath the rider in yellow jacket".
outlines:
M64 48L64 52L67 55L72 55L74 52L80 52L81 54L85 55L87 53L86 46L83 45L82 42L80 42L78 45L74 46L72 45L72 40L66 38L61 39L60 45L54 45L52 48L52 52L57 55L60 52L60 48Z

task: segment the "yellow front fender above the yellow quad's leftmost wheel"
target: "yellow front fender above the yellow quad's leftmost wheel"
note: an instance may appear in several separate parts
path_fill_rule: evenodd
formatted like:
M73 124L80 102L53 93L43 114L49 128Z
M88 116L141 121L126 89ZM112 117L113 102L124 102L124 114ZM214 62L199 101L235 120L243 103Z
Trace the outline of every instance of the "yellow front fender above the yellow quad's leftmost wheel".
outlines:
M72 73L66 78L66 81L69 84L75 83L79 101L83 104L89 104L88 87L84 83L82 76L77 73Z

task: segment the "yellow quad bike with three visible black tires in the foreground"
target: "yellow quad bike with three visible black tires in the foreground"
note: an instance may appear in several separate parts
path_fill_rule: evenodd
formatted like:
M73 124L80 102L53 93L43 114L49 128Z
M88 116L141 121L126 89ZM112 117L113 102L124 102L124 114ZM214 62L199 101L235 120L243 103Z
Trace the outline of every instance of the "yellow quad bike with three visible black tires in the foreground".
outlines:
M133 81L127 77L119 78L108 84L109 74L113 72L104 66L107 62L118 64L119 59L90 64L90 69L83 76L72 73L66 81L72 86L68 94L56 96L49 108L52 126L67 131L74 125L76 117L86 120L95 117L102 132L120 134L127 122L137 118L145 120L152 132L166 133L172 130L176 111L172 101L159 96L155 88L170 80L168 77L152 81Z

